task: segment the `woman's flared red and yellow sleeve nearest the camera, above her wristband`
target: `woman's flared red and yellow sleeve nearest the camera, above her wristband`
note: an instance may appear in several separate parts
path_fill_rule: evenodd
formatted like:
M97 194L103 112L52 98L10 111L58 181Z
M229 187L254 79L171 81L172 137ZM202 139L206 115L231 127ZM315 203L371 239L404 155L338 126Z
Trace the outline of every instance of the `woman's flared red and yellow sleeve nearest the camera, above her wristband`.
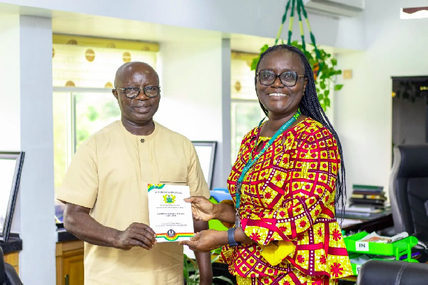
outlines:
M282 176L285 182L282 187L277 187L277 191L283 191L277 193L277 197L284 196L276 201L281 206L272 209L245 203L240 212L245 234L259 244L298 239L321 213L335 217L335 184L340 157L330 132L317 128L309 133L302 143L297 144L295 156L291 157L293 162ZM278 175L285 173L279 168L274 167L267 185L278 184Z

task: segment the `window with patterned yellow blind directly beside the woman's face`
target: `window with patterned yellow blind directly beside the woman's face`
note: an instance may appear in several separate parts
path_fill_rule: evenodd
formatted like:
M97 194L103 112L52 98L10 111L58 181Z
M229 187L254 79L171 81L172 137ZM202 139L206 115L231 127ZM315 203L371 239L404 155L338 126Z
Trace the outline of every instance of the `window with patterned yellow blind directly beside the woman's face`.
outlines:
M250 130L265 117L254 87L255 71L250 70L250 63L258 54L232 52L231 58L231 162L236 160L240 142Z

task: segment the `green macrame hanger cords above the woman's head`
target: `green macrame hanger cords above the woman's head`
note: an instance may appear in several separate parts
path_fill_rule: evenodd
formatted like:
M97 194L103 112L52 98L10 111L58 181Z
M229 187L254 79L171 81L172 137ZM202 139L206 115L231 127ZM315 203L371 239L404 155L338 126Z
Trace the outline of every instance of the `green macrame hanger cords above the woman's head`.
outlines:
M287 5L285 5L285 12L282 15L282 23L280 25L280 30L278 31L277 37L275 38L275 45L277 44L277 42L280 39L280 36L281 36L281 33L282 33L282 27L285 25L285 21L287 20L287 14L288 14L288 10L290 9L290 4L292 6L291 6L291 12L290 12L290 23L288 25L288 39L287 39L287 44L289 44L289 45L291 44L292 24L293 24L293 20L294 20L294 13L295 13L296 2L297 2L297 15L299 16L300 36L302 37L302 48L303 48L303 51L306 51L306 43L305 43L305 31L303 29L303 24L302 24L302 14L305 17L306 26L307 26L307 29L310 32L310 40L312 41L312 45L314 46L314 49L315 49L315 56L316 56L317 60L319 61L320 58L321 58L321 54L320 54L320 51L317 48L317 45L315 44L315 36L312 33L312 29L310 28L309 20L307 19L306 9L305 9L305 6L303 5L303 1L302 0L288 0L287 1ZM284 41L282 41L282 43L284 43ZM322 71L322 67L323 66L324 66L324 63L321 63L320 66L319 66L319 68L317 68L317 70L314 70L314 76L315 76L315 78L318 77L318 75L320 74L320 71Z

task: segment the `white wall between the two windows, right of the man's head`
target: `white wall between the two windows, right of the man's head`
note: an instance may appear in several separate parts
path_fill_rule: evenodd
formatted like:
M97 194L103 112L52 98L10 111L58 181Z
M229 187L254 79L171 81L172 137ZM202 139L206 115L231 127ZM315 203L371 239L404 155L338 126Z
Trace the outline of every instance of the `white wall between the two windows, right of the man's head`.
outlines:
M230 135L224 140L221 38L161 43L158 71L162 93L155 120L189 140L217 141L213 187L225 187L223 170L230 165L223 167L221 154Z

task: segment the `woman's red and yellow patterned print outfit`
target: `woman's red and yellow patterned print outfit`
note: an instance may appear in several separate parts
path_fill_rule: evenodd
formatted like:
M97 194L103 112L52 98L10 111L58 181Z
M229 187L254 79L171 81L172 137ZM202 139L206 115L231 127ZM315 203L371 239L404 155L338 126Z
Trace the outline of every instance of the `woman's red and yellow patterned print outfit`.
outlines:
M228 189L233 199L235 183L256 147L257 132L255 128L245 135L230 172ZM314 276L337 279L352 275L335 219L339 168L336 141L317 121L307 118L279 135L243 180L241 224L257 244L223 247L221 258L230 272L254 280L292 272L308 276L307 284L312 284ZM275 240L291 241L296 249L272 266L260 255L259 244Z

